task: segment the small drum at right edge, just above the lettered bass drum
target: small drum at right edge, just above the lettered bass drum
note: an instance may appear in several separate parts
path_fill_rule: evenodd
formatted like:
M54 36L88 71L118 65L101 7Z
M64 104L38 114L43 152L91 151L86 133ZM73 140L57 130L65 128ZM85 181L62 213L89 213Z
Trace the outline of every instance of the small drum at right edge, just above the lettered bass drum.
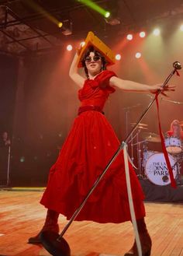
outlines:
M181 153L182 147L181 147L181 139L177 137L167 137L164 140L165 146L167 148L167 152L171 154L178 154Z

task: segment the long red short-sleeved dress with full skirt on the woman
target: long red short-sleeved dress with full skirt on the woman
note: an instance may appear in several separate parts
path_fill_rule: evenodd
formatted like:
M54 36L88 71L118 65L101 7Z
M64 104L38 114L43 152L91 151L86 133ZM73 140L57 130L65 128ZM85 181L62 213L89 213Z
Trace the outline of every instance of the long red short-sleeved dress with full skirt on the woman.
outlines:
M87 109L85 106L97 106L102 110L109 93L115 91L109 86L109 79L113 75L114 72L105 70L94 80L85 80L83 88L78 92L81 109ZM119 145L120 142L104 114L98 110L85 110L79 114L60 150L57 162L50 168L47 189L40 203L70 219ZM129 172L136 219L140 219L145 216L143 191L130 164ZM121 152L76 220L123 223L130 219Z

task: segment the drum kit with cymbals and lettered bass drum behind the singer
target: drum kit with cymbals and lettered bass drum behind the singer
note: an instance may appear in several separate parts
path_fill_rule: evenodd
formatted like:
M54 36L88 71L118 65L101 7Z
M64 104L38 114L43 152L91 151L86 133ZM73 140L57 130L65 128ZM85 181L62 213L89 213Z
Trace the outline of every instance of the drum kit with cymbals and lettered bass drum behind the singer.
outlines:
M134 123L132 123L132 126L133 125ZM181 126L183 126L183 122ZM136 135L133 135L133 138L130 140L132 161L134 160L133 146L136 146L137 148L138 168L136 169L138 169L139 173L137 176L142 179L148 179L151 183L160 186L170 184L171 181L167 170L167 164L164 159L164 153L149 149L149 144L154 145L155 148L155 144L157 145L157 143L161 143L161 137L154 132L146 132L145 130L147 129L147 124L138 124ZM142 141L139 140L140 132L142 132ZM165 135L164 137L164 143L173 170L174 179L177 184L181 184L183 141L181 141L181 138L174 136ZM136 143L133 143L134 139L136 140Z

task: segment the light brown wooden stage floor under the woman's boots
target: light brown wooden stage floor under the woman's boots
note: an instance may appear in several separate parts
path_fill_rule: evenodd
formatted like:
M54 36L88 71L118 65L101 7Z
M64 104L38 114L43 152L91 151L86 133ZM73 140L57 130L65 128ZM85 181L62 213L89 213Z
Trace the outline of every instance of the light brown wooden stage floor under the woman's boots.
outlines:
M0 256L47 256L43 247L27 244L44 220L42 191L0 191ZM152 256L183 256L183 204L145 203ZM60 230L67 220L60 216ZM74 222L64 238L73 256L123 255L133 244L131 223Z

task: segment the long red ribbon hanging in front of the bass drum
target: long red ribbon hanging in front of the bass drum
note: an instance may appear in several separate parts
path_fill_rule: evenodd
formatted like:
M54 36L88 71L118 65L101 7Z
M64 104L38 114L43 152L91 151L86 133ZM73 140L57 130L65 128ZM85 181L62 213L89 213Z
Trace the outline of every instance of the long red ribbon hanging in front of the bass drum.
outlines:
M167 170L169 171L169 174L170 174L171 187L172 188L177 188L176 183L174 181L174 174L173 174L173 170L171 168L171 163L170 163L170 160L169 160L169 157L168 157L168 154L167 154L167 149L166 149L165 144L164 144L164 135L163 135L162 130L161 130L161 118L160 118L160 110L159 110L159 103L158 103L158 94L156 94L155 98L156 98L156 103L157 103L157 117L158 117L159 132L160 132L160 136L161 136L161 146L162 146L162 149L163 149L165 161L167 163Z

